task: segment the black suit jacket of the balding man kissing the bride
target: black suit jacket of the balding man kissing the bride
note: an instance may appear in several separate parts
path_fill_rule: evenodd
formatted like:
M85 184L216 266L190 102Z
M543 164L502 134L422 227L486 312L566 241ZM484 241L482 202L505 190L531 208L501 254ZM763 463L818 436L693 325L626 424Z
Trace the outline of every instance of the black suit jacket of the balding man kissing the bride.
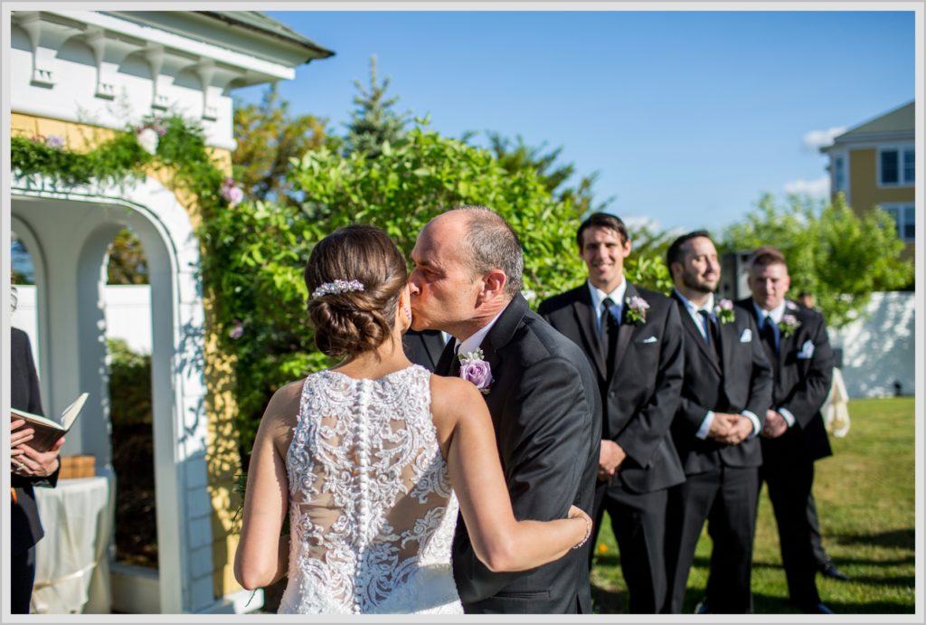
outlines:
M456 375L454 342L437 373ZM570 505L591 514L601 445L594 372L576 344L516 296L483 339L494 381L485 395L517 519L564 519ZM591 614L588 550L537 569L494 573L473 553L462 519L454 577L468 613Z

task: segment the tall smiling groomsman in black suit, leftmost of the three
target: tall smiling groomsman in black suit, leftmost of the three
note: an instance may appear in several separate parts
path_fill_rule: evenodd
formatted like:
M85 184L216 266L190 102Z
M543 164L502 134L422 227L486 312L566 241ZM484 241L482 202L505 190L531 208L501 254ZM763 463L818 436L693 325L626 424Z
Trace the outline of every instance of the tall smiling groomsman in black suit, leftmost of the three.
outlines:
M669 487L685 480L669 431L684 374L682 322L669 297L624 278L632 243L621 219L594 213L577 242L588 280L537 312L582 347L597 373L603 419L592 544L607 510L630 611L656 614L668 587Z

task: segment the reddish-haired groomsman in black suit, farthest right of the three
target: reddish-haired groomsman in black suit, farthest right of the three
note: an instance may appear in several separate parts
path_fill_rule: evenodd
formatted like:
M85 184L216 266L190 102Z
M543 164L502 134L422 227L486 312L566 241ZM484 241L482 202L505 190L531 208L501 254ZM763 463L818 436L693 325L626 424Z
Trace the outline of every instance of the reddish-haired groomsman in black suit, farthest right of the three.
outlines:
M785 299L791 278L782 253L759 247L749 260L752 297L736 303L756 321L774 375L762 430L762 469L778 523L791 600L803 612L832 614L817 592L807 501L814 461L832 456L820 406L832 383L833 355L820 313Z

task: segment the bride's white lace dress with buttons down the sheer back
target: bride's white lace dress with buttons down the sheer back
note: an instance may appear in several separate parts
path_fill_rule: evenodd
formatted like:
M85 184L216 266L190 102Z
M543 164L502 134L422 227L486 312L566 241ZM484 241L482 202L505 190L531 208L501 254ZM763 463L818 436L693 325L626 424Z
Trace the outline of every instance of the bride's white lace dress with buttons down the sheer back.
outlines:
M286 454L289 582L281 613L462 614L450 564L457 497L430 373L308 376Z

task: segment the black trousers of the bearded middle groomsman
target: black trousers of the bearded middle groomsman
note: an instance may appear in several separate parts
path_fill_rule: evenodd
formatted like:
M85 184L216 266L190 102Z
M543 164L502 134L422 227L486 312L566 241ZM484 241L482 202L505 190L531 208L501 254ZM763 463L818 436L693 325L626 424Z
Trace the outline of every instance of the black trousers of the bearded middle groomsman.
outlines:
M716 614L752 614L750 584L758 469L721 466L686 478L669 492L669 596L663 611L682 612L694 549L707 521L707 533L713 541L707 578L708 610Z

